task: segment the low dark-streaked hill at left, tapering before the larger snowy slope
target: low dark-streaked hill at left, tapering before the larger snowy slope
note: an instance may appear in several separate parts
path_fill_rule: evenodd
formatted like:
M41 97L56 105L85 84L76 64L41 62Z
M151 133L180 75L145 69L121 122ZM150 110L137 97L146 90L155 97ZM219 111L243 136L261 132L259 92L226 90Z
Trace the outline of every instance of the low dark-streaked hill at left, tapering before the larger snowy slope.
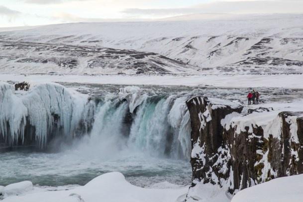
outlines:
M125 49L0 41L1 73L167 74L195 67L165 56Z

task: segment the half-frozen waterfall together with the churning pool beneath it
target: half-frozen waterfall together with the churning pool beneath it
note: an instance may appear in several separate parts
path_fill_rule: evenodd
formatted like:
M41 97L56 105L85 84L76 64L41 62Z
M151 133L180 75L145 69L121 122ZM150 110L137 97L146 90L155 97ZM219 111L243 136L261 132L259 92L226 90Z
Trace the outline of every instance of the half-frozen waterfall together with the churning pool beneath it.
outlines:
M0 149L34 148L0 150L2 185L27 175L42 185L85 184L111 171L139 186L190 182L187 96L139 87L88 96L58 84L32 85L26 92L1 83L0 90ZM11 162L15 180L5 178ZM33 172L24 169L28 165Z

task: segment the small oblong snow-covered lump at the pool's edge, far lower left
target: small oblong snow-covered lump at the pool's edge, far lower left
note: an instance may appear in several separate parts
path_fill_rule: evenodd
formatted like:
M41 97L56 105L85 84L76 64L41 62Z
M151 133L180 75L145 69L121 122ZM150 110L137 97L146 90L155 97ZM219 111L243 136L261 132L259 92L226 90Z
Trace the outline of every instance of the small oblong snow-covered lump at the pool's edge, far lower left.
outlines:
M4 195L21 195L33 190L33 184L30 181L23 181L7 185L3 188Z

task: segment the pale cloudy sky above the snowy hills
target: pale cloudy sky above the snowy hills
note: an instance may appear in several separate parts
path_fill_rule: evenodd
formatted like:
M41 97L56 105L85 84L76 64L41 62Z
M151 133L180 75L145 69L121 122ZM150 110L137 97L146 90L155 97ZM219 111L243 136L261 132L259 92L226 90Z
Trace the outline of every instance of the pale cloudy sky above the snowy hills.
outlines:
M0 0L0 27L157 20L197 13L303 13L303 0Z

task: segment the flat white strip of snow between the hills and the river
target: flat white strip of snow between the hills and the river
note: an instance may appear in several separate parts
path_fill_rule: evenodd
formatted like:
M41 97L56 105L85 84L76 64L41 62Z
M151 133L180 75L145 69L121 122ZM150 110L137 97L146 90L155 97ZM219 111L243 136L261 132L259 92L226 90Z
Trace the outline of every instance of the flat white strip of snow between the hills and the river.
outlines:
M201 75L201 76L122 76L122 75L19 75L0 74L0 81L68 82L87 84L213 86L223 88L277 87L303 89L302 74L280 75Z

